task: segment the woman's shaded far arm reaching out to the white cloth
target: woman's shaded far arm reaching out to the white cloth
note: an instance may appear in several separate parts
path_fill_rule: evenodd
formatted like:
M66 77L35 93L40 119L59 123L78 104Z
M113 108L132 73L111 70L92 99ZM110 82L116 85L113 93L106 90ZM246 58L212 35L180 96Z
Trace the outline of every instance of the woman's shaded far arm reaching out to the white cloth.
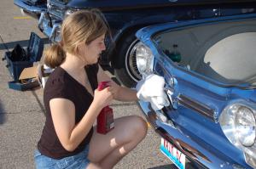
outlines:
M112 79L102 70L100 65L97 79L98 82L110 82L110 91L113 93L113 99L117 99L119 101L137 101L137 91L135 89L121 87L116 82L113 82Z

